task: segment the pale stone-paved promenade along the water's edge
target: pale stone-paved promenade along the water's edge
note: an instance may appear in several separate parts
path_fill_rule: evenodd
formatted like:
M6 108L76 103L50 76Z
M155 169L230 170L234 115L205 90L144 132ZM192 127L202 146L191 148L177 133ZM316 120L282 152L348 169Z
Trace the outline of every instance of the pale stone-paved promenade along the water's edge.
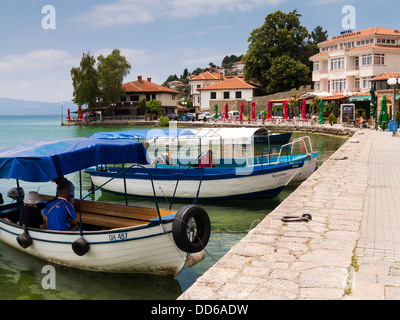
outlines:
M357 131L179 299L400 299L399 220L400 138Z

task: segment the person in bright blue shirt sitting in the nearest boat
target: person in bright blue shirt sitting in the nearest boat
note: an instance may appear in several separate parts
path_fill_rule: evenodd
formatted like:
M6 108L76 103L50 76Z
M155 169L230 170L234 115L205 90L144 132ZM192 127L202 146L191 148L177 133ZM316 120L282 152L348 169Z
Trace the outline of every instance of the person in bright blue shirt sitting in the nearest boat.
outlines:
M67 201L68 188L61 186L57 198L43 209L46 226L49 230L65 231L76 225L77 215L74 207Z

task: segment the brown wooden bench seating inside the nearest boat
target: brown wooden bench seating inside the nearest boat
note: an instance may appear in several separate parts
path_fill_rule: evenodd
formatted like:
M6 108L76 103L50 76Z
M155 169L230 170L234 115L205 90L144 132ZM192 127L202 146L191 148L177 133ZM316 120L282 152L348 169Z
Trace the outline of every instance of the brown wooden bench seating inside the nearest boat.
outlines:
M41 195L48 201L54 197ZM79 220L79 200L75 199L75 211ZM152 219L158 219L157 209L126 206L106 202L80 202L82 223L106 228L125 228L148 224ZM176 211L160 209L161 217L174 214Z

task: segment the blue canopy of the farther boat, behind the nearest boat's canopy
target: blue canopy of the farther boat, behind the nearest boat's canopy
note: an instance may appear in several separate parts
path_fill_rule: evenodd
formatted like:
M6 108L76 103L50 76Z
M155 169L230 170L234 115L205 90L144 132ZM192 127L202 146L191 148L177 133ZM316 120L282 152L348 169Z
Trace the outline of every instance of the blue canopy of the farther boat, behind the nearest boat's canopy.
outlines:
M160 137L177 137L181 135L194 135L189 129L151 129L151 130L128 130L128 131L114 131L114 132L97 132L92 134L90 139L154 139Z

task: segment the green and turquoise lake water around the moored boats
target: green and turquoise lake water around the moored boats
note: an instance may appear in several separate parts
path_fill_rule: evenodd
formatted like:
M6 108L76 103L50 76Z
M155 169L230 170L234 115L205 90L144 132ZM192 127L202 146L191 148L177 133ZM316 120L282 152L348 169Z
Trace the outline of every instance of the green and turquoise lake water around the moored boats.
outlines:
M0 149L19 145L33 139L64 139L87 137L99 131L132 130L134 127L63 127L57 116L0 116ZM294 133L293 138L304 134ZM319 151L318 164L321 165L345 141L342 137L309 135L313 149ZM292 138L292 139L293 139ZM79 194L79 175L68 176ZM54 194L53 183L30 184L21 181L25 193L40 190ZM0 192L6 202L7 191L15 187L13 180L1 180ZM90 177L83 175L83 195L90 187ZM212 235L207 246L206 258L198 265L184 270L176 277L163 277L141 274L106 274L86 272L54 265L56 270L56 289L45 290L42 280L46 273L42 268L49 263L31 257L17 249L0 242L0 299L96 299L96 300L173 300L190 287L196 279L207 271L252 226L265 218L278 206L296 186L286 188L276 199L251 201L221 201L202 203L210 215ZM124 203L121 196L99 192L96 199L114 203ZM150 200L130 198L130 203L140 206L153 206ZM184 202L175 202L178 210ZM160 206L169 204L160 199Z

